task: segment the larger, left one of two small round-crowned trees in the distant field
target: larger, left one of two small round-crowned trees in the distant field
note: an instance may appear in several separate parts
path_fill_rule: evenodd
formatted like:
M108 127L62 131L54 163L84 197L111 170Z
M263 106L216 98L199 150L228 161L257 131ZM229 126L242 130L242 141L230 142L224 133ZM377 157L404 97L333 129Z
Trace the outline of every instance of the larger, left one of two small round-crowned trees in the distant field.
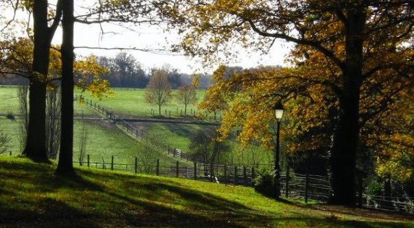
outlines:
M161 116L161 106L166 105L172 98L171 85L167 79L167 73L157 70L149 79L145 89L145 100L158 106L158 114Z

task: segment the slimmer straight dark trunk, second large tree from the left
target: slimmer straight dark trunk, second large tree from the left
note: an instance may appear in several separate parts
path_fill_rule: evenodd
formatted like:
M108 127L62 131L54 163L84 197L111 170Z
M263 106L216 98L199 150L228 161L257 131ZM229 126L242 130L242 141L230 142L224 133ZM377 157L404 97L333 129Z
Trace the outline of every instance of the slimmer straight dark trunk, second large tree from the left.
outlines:
M75 174L73 170L73 0L64 0L62 5L62 121L60 153L56 173L65 176Z

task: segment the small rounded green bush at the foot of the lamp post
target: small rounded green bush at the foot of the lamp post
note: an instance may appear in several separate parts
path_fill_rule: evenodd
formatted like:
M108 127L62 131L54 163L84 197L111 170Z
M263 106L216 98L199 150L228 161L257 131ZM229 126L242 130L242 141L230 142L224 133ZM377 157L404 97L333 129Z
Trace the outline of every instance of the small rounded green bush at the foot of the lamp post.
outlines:
M276 196L274 178L274 170L260 170L257 173L257 177L253 180L254 190L266 197L274 198Z

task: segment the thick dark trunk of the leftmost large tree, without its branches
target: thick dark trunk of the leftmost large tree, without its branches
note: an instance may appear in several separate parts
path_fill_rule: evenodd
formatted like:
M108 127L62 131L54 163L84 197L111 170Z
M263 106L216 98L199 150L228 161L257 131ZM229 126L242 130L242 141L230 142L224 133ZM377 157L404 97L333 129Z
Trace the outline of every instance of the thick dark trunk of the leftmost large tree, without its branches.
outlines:
M45 109L50 46L50 30L47 25L47 0L34 1L33 17L33 75L30 75L29 125L23 154L36 162L47 162Z

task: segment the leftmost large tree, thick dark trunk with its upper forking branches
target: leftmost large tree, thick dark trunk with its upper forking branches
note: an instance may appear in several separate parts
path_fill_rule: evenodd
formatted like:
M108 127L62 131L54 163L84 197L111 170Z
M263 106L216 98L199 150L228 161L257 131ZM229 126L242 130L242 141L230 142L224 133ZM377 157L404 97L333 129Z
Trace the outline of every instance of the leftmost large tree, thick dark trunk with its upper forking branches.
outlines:
M33 27L27 25L27 32L32 36L32 71L29 72L29 123L27 127L27 141L23 154L32 160L47 161L45 142L45 108L46 108L46 78L49 70L49 51L51 40L60 23L61 0L56 8L49 8L47 0L39 1L6 1L16 14L25 10L33 15ZM2 30L13 27L12 21L7 21ZM13 36L9 34L9 36Z

